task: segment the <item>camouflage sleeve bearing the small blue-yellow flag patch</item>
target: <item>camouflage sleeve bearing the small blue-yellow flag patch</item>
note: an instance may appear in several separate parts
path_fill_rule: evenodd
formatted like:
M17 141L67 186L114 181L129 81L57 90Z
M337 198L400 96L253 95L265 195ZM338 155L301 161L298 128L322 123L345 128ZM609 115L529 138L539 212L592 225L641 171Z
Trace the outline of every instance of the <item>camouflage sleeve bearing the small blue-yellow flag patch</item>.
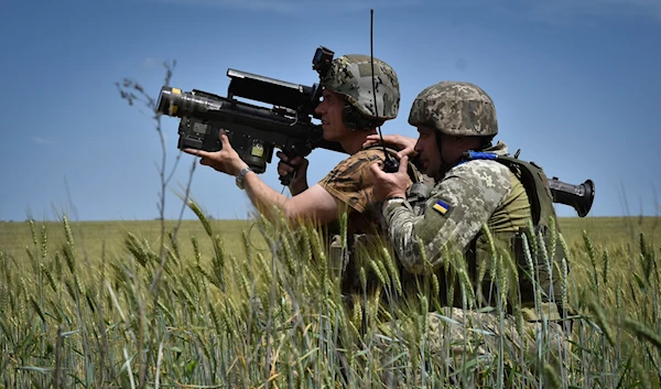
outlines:
M507 152L500 143L499 152ZM443 246L465 251L512 188L510 171L489 160L464 162L451 169L432 190L423 215L405 202L383 209L388 235L400 261L412 273L424 272L423 258L437 269L443 264ZM424 256L419 240L422 240Z

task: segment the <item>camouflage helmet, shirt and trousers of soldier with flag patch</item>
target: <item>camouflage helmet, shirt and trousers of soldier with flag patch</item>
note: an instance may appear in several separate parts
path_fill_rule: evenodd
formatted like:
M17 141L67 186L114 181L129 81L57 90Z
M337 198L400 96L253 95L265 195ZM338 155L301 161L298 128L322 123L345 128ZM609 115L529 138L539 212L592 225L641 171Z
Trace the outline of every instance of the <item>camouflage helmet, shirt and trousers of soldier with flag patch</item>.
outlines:
M495 136L498 131L494 102L484 90L468 83L444 82L424 89L413 102L409 122L412 126L432 127L452 136ZM500 155L508 153L501 142L485 151ZM441 295L431 298L448 306L446 312L455 318L460 317L458 325L447 326L446 322L435 320L438 316L432 314L429 326L431 353L447 353L451 349L454 356L475 352L488 357L496 349L492 344L489 345L488 336L479 332L477 343L465 339L465 329L475 328L477 323L481 323L478 327L488 329L494 339L509 339L520 350L524 348L522 338L530 335L527 344L533 348L523 349L527 355L534 355L540 346L564 355L566 338L561 325L549 322L560 318L555 304L560 300L560 277L556 272L553 279L549 273L552 263L533 263L531 271L530 261L513 248L513 242L518 241L516 238L527 229L532 218L530 198L521 176L516 172L491 160L463 161L436 183L422 214L413 212L404 201L391 199L383 205L382 216L402 266L411 274L435 273L441 283ZM492 235L494 246L486 238L483 226L487 226ZM463 258L457 260L453 250L460 251ZM494 250L499 255L507 251L513 260L509 263L500 260L498 263L491 255ZM499 322L494 313L460 309L464 306L459 292L462 287L475 293L477 306L498 305L492 279L498 266L507 268L502 271L510 275L518 277L518 290L512 292L514 295L510 293L506 296L517 300L507 307L520 307L518 315L508 312L503 322ZM448 280L448 268L459 277ZM535 290L527 272L539 275L537 282L541 280L541 283L537 288L540 290ZM456 291L453 296L447 295L449 289ZM542 295L541 303L535 299L535 291ZM514 325L516 317L522 322L518 328ZM464 324L465 320L472 323ZM540 323L546 326L544 333L551 343L535 344L533 335L539 332Z

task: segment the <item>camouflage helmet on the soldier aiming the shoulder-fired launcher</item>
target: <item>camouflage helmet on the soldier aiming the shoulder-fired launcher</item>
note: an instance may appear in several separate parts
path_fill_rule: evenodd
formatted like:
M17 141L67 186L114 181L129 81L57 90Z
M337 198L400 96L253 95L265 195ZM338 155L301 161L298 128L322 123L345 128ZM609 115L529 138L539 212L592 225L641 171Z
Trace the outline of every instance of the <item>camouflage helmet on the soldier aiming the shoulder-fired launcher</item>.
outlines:
M375 60L377 111L372 98L371 62L369 55L348 54L333 60L326 77L321 82L328 90L343 95L368 118L394 119L399 111L400 91L397 74L381 60Z

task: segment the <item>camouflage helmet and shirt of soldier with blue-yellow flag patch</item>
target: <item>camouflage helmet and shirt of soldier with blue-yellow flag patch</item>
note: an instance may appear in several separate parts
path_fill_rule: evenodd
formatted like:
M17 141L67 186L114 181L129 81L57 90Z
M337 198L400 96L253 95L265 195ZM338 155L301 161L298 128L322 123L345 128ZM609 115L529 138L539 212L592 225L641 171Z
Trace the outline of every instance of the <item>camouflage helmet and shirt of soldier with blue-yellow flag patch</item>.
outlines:
M424 89L413 102L409 122L453 136L498 132L494 102L484 90L468 83L444 82ZM484 151L508 153L502 142ZM394 199L384 204L383 218L390 240L409 272L422 274L443 268L446 250L458 249L466 255L466 263L458 266L466 270L478 290L483 282L490 281L477 279L478 267L490 251L483 226L494 235L496 248L506 248L532 218L530 201L521 177L508 166L491 160L472 160L449 169L436 183L422 215L415 214L407 202ZM528 264L523 258L517 259L520 260L517 264ZM523 275L519 281L520 284L528 282ZM559 290L560 285L556 287ZM522 302L533 302L532 288L524 290L531 293L522 294ZM458 305L453 301L445 303L462 306L460 301Z

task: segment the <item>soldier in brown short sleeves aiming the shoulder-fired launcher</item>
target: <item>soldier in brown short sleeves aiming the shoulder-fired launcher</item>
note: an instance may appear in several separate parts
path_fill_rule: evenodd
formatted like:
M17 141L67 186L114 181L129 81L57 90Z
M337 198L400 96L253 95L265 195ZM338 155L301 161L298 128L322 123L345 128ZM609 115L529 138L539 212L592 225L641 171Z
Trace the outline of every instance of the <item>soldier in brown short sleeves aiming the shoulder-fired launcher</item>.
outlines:
M372 78L376 94L372 93ZM235 175L239 187L246 190L253 205L267 216L270 207L275 206L292 221L315 220L329 225L346 210L349 234L371 234L379 228L380 204L375 204L372 198L373 179L369 165L383 160L384 153L382 148L366 148L364 143L369 134L377 133L378 126L397 117L400 104L397 74L383 61L373 58L372 64L369 55L344 55L332 62L321 85L323 100L315 110L321 115L323 136L340 143L350 156L318 183L308 186L307 160L290 159L279 152L279 174L295 173L290 184L290 198L251 172L223 132L220 151L184 151L202 156L203 165Z

